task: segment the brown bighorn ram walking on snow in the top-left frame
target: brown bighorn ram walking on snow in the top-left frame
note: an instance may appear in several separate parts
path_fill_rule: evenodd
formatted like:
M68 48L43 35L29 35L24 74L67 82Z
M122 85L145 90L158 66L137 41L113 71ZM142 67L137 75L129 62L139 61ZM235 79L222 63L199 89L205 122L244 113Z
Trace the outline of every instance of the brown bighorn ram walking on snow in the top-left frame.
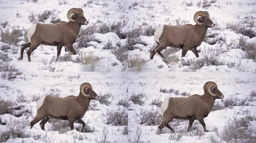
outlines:
M73 15L71 15L73 14ZM57 46L57 57L61 53L63 46L67 47L74 55L73 43L80 31L81 25L88 25L87 19L83 15L83 10L80 8L72 8L67 12L69 22L57 22L54 24L36 23L27 30L28 43L21 45L21 55L18 60L23 59L23 52L28 48L27 57L30 60L31 53L40 45Z

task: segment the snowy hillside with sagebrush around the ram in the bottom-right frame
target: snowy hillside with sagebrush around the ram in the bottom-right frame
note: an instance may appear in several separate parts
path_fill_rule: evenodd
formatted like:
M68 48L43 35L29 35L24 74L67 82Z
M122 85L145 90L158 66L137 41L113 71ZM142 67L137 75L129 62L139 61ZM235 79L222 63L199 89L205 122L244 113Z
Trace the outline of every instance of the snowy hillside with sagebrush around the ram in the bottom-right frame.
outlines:
M149 80L145 81L144 79ZM188 120L173 120L169 123L175 133L171 133L167 127L163 128L162 132L157 131L157 127L162 121L158 106L164 99L186 97L193 94L202 95L204 83L209 80L216 82L224 98L216 99L212 111L208 117L204 118L208 132L203 132L199 122L195 122L192 125L192 131L187 132ZM137 72L129 78L128 85L128 95L133 96L134 101L134 104L128 108L128 128L131 131L128 139L132 141L141 140L145 143L226 143L235 142L232 139L236 139L236 136L243 138L238 141L239 143L246 142L246 139L250 143L256 140L255 73ZM244 126L246 130L242 132L240 126L234 128L235 121L232 121L234 117L237 119L246 118L246 125ZM228 121L231 122L230 125L227 124ZM250 137L249 135L243 136L243 133L250 134ZM223 135L225 136L223 137Z

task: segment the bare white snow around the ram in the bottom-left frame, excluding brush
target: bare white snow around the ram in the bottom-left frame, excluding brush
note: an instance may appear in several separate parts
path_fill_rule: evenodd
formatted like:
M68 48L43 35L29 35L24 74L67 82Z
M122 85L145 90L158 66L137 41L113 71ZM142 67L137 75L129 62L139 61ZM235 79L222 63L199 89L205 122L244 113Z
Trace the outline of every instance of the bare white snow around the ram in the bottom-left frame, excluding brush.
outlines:
M1 75L3 75L2 73ZM103 96L105 93L111 93L112 97L109 98L110 104L104 105L99 101L92 100L90 103L90 109L85 113L82 118L83 121L89 121L88 126L92 133L79 133L78 131L64 132L63 134L58 131L52 131L50 129L51 123L46 123L46 131L41 130L39 123L35 124L33 128L29 128L28 123L36 116L36 101L31 101L33 95L45 96L54 95L65 97L69 95L77 96L79 94L80 84L83 82L89 82L92 85L93 90L99 95ZM117 73L99 73L99 72L85 72L79 73L48 73L48 72L34 72L28 74L21 74L11 80L1 78L0 81L0 95L1 99L20 101L13 105L12 114L0 115L1 125L0 131L7 130L7 125L11 120L22 121L25 120L24 133L26 138L10 139L7 142L38 142L42 143L45 134L48 138L52 137L55 143L60 142L88 142L95 143L95 140L100 139L102 136L102 130L107 128L107 140L110 142L118 141L118 143L127 142L126 135L122 134L124 126L114 126L107 124L106 111L108 110L123 110L125 109L127 114L127 108L122 105L117 105L120 99L124 99L127 96L127 76L123 72ZM120 86L123 85L123 86ZM21 97L21 98L20 98ZM24 99L27 101L21 101ZM15 114L21 112L21 115L15 117ZM74 124L75 128L79 128L80 124ZM2 133L2 132L1 132ZM3 135L3 134L2 134ZM74 136L82 136L77 139ZM31 137L36 139L34 140ZM28 138L30 137L30 138ZM41 138L41 140L40 140Z

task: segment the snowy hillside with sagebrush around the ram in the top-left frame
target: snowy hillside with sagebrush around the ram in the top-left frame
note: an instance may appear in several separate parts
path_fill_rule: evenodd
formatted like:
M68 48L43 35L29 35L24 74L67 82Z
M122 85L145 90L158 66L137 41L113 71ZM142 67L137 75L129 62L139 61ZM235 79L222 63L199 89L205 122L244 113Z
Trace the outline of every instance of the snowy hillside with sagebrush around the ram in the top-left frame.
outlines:
M110 6L114 8L110 9ZM62 48L61 59L55 62L57 48L40 45L31 54L31 63L27 61L27 50L23 60L17 60L21 44L27 42L25 31L33 23L67 22L67 11L73 7L82 8L85 18L89 19L89 25L81 27L81 31L87 32L80 32L77 42L73 44L77 55ZM126 26L127 22L123 20L127 19L127 15L121 1L3 0L0 9L0 61L4 63L14 64L21 71L127 70L128 51L119 31Z

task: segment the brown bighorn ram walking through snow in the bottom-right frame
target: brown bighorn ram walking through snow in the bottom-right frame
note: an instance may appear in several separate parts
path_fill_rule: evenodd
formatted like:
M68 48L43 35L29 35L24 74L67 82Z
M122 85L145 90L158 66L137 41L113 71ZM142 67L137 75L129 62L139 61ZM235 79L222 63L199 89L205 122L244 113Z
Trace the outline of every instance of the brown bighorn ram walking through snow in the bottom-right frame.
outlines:
M204 84L204 95L191 95L189 97L168 98L161 104L162 123L158 126L162 130L165 126L173 133L173 128L168 125L174 118L189 120L188 131L191 130L195 120L206 130L204 118L208 116L213 107L215 99L223 99L224 95L218 89L216 83L207 82Z

